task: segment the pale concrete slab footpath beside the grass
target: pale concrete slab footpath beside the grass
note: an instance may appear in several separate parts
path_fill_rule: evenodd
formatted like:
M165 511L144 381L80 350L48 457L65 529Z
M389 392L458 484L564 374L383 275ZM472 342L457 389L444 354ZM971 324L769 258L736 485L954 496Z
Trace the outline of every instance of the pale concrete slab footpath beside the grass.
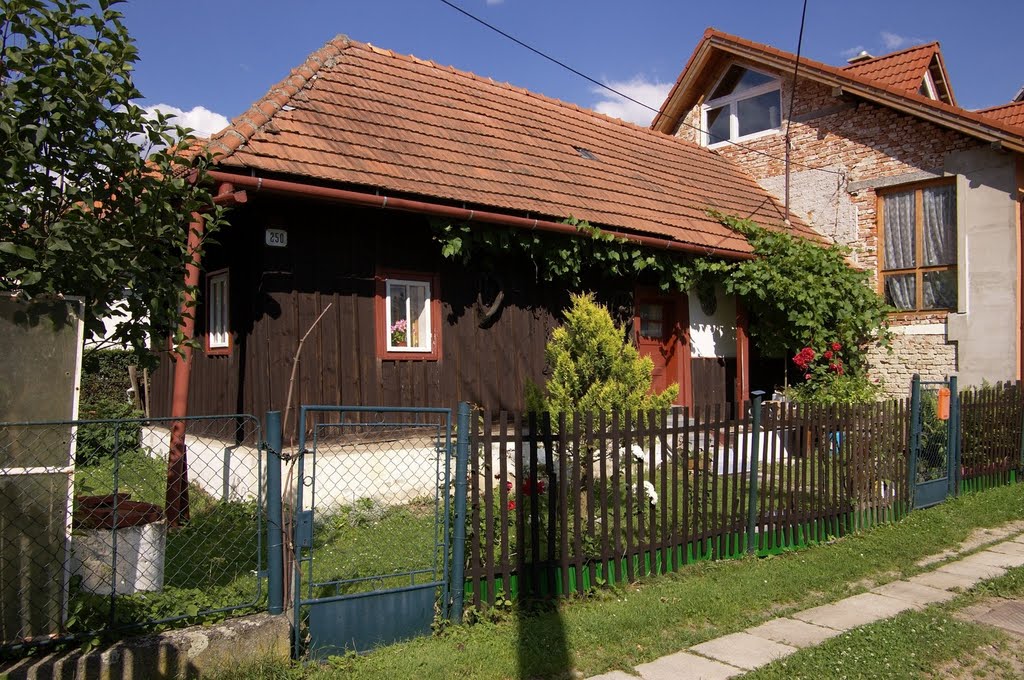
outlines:
M858 626L895 617L907 609L923 609L956 596L981 581L1024 566L1024 522L978 529L956 550L926 557L918 566L940 564L931 571L894 581L869 592L786 618L708 640L688 649L637 666L636 675L612 671L590 680L721 680L753 671L802 649L820 644ZM957 555L988 546L961 559Z

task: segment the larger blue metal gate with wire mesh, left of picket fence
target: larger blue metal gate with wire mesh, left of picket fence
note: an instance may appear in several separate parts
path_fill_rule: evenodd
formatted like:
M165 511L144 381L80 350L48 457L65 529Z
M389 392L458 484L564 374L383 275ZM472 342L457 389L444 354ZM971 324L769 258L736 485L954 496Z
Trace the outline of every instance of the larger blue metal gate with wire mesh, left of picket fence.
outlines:
M452 601L452 412L305 406L295 646L309 658L428 634Z

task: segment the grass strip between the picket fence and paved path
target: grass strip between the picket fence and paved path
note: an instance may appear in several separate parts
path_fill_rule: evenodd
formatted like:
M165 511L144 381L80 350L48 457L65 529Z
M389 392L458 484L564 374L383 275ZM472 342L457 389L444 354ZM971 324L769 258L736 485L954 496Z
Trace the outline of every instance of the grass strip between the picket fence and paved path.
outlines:
M698 563L625 589L601 590L558 608L513 607L473 626L450 627L440 635L337 658L325 667L255 663L221 677L535 678L625 670L915 573L921 570L915 561L957 545L975 527L1021 516L1024 485L998 487L827 545L762 559ZM929 613L922 615L911 623L923 631L916 639L930 644L943 633L937 627L944 624L928 619ZM988 639L969 627L963 636L966 646ZM871 638L858 645L869 649ZM929 656L928 663L939 663L941 655Z

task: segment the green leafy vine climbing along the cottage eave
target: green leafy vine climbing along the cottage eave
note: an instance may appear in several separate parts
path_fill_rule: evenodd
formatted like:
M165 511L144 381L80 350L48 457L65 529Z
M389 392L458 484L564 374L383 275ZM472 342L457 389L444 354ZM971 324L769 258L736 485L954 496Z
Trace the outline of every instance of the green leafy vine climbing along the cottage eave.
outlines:
M577 218L565 220L577 228L577 237L438 221L434 239L444 257L467 264L525 256L539 279L569 290L579 291L594 278L635 281L641 275L670 292L718 285L742 300L754 322L752 338L764 353L784 356L801 347L839 342L852 375L864 371L868 345L888 344L890 308L871 287L869 273L847 262L848 248L709 214L742 235L755 257L726 261L652 251Z

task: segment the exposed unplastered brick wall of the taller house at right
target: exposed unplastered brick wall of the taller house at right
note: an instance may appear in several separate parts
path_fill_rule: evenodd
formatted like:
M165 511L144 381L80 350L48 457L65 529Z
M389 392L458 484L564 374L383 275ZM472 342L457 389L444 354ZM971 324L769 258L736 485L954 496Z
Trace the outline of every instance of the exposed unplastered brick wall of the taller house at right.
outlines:
M760 66L757 69L765 71ZM784 126L791 118L793 79L786 74L776 76L782 82L782 130L739 144L723 144L715 151L739 164L781 201L785 194ZM676 134L699 142L699 127L697 103L687 112ZM922 176L942 176L949 154L984 145L885 107L835 96L830 87L806 80L800 81L794 98L790 134L793 210L821 235L850 246L851 259L871 271L876 286L879 243L873 185L887 178L890 183L903 183ZM944 322L945 313L892 321L899 327ZM893 394L907 393L914 373L935 379L954 373L956 360L956 344L947 342L945 334L897 334L891 351L876 348L870 352L872 375L883 379Z

